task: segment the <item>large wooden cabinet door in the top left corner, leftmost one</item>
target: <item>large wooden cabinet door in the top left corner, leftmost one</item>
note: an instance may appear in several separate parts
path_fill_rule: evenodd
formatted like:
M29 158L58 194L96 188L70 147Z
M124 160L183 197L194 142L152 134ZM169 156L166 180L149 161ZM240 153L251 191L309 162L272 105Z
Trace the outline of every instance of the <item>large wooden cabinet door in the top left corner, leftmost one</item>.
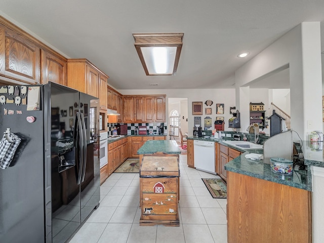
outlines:
M41 81L41 49L1 24L0 75L33 85Z

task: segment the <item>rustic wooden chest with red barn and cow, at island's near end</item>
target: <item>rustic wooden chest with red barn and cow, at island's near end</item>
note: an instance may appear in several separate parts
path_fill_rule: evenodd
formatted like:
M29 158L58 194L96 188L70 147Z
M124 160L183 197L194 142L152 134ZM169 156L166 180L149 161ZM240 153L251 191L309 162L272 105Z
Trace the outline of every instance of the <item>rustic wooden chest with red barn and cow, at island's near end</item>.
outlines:
M139 174L140 225L179 226L179 155L144 155Z

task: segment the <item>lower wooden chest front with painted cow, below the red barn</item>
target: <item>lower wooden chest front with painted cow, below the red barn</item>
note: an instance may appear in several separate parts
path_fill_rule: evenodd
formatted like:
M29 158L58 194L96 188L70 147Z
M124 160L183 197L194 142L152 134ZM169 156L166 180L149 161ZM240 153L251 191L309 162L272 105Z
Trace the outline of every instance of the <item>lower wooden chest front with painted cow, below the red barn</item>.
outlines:
M173 193L143 193L142 214L176 215L177 203Z

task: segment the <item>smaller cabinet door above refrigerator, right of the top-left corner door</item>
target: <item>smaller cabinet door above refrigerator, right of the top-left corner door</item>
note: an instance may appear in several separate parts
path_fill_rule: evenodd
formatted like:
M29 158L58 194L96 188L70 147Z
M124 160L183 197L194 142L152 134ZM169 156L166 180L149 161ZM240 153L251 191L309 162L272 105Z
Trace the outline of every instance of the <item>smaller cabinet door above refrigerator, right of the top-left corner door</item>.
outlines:
M66 86L67 60L46 50L41 50L42 84L49 81Z

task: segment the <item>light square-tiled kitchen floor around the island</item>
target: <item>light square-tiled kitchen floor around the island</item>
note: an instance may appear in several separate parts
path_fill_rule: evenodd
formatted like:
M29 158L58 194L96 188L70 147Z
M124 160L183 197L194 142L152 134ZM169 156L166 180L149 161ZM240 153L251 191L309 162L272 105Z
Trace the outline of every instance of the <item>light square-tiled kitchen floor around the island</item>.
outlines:
M188 168L180 155L180 227L139 226L139 174L113 173L100 187L100 207L70 243L226 243L226 199L212 198L201 178L219 177Z

